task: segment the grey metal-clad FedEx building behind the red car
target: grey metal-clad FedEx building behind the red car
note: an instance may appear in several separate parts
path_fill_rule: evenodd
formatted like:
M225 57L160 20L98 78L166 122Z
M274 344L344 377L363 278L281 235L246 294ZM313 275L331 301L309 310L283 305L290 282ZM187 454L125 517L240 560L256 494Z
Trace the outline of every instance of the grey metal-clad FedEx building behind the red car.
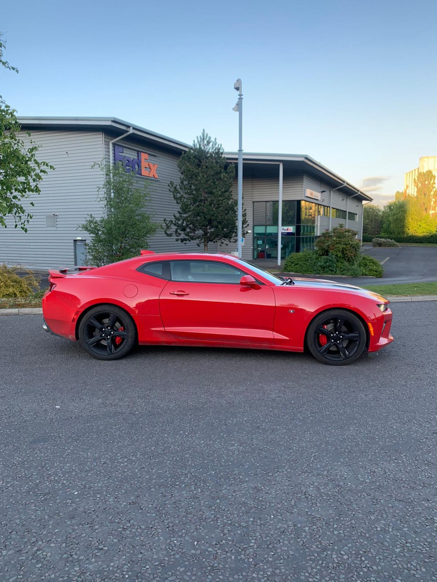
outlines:
M86 261L89 233L80 230L87 215L101 217L99 200L103 174L96 164L121 162L136 180L147 180L147 212L162 222L177 204L169 190L178 182L178 159L189 145L117 118L21 117L23 130L40 146L38 157L55 167L44 176L40 196L33 197L28 232L0 228L0 262L31 269L72 267ZM27 136L23 132L23 139ZM230 164L237 154L226 153ZM237 197L237 178L234 182ZM372 198L308 155L243 155L243 200L248 227L242 246L245 260L281 260L312 248L325 229L343 223L362 233L362 205ZM281 212L279 211L281 209ZM154 251L196 251L158 232L150 240ZM236 244L210 245L232 252Z

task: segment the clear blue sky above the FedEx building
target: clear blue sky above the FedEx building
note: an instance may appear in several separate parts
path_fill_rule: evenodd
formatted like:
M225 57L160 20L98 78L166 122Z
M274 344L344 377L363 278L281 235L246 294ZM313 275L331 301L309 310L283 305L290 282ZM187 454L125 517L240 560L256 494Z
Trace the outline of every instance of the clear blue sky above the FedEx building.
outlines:
M19 8L17 8L19 7ZM192 143L309 154L376 202L437 155L437 2L3 3L19 115L114 116Z

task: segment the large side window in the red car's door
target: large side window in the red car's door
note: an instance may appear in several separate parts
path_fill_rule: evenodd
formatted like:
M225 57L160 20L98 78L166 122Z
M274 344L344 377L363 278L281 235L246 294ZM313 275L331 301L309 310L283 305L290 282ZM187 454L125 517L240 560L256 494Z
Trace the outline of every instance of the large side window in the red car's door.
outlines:
M237 284L245 272L218 261L171 261L172 281Z

